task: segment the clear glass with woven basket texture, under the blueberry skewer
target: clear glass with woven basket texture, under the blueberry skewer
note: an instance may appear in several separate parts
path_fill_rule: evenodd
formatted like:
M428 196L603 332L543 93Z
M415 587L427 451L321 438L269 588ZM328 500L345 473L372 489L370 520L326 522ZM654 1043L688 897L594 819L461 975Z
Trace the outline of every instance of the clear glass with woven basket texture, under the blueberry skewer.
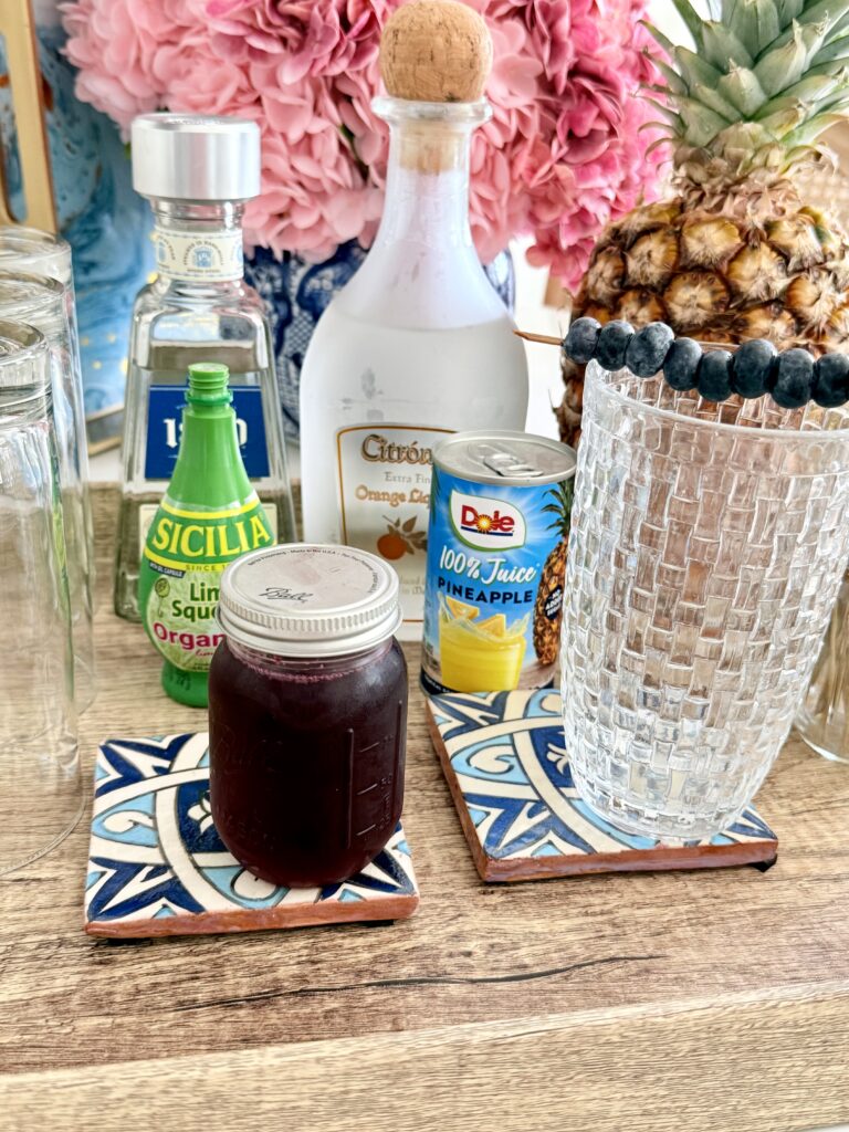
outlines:
M712 403L592 363L561 642L582 798L661 841L752 800L849 558L849 411Z

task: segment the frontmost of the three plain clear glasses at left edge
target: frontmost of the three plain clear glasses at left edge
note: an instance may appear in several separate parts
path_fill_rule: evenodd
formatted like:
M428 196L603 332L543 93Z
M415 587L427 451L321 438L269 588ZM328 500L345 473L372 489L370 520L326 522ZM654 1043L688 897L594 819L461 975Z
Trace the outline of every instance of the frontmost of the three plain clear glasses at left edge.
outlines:
M49 353L0 321L0 875L58 844L83 806Z

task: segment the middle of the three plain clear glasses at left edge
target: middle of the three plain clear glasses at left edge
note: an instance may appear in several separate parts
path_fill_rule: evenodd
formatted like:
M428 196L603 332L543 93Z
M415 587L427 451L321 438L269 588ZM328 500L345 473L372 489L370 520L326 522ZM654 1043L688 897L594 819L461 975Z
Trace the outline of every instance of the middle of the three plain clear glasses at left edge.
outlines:
M0 260L0 264L2 260ZM44 275L0 271L0 318L27 323L48 341L53 420L59 454L59 486L68 551L74 631L74 687L78 711L92 703L94 676L94 563L87 466L79 446L75 388L78 375L65 286Z

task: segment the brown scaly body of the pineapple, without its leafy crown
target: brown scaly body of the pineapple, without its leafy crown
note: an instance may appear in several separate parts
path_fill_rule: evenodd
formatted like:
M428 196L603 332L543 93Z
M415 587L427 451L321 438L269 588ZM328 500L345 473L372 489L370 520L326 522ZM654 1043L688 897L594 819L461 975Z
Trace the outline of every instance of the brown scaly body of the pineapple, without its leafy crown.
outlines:
M694 195L695 196L695 195ZM668 323L702 342L769 338L818 355L849 349L849 240L789 182L769 195L675 197L635 208L602 233L572 317ZM561 358L560 438L581 438L584 367Z

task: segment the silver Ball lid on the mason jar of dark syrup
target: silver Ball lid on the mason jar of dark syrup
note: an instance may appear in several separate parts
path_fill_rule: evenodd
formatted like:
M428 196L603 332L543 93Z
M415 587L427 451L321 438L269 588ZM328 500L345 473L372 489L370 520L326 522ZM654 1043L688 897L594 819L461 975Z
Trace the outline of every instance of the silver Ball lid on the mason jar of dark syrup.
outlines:
M277 657L366 652L401 624L398 576L352 547L255 550L224 571L218 624L239 644Z

